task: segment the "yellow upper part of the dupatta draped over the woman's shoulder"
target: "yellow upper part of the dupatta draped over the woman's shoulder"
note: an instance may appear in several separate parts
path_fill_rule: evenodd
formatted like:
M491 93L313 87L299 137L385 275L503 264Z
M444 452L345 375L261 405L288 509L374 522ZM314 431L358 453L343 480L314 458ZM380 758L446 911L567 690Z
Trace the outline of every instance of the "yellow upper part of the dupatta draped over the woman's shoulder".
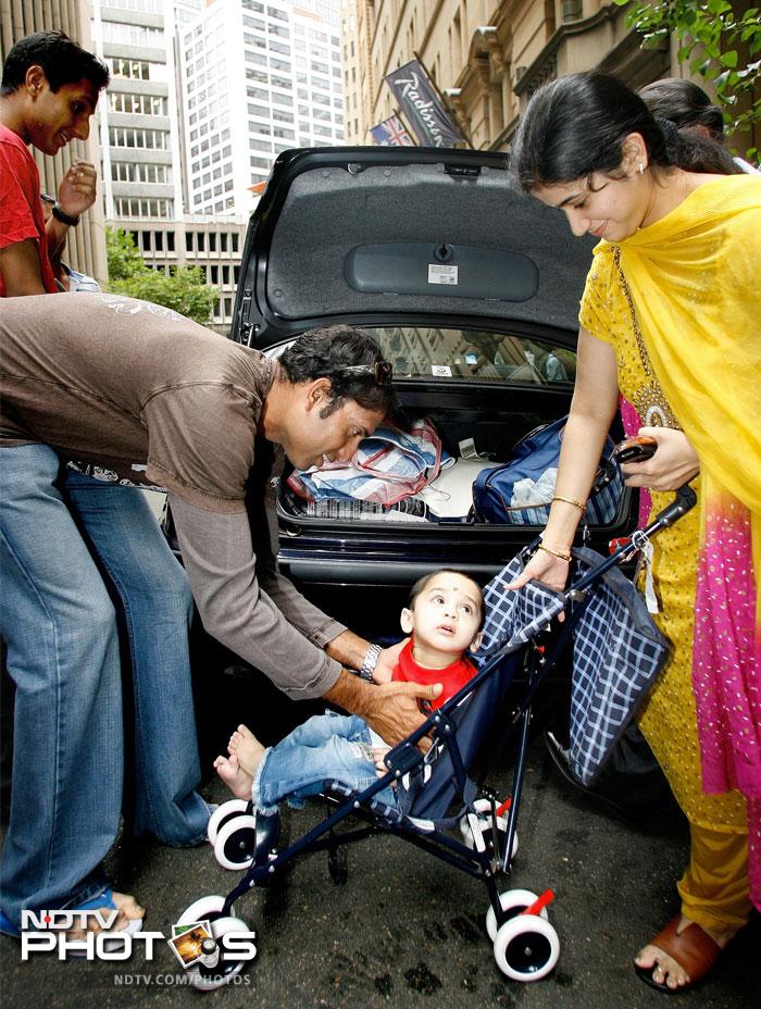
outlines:
M656 375L700 457L707 510L748 509L759 627L761 176L704 183L620 248Z

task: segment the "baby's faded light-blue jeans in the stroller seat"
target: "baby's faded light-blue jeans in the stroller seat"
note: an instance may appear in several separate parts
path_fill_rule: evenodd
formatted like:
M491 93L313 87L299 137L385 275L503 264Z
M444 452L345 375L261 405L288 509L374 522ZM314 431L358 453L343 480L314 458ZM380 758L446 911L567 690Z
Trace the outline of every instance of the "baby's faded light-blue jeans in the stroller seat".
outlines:
M254 806L270 813L287 799L299 809L309 796L323 790L326 781L357 792L369 788L378 780L370 739L367 723L355 714L327 711L309 719L265 751L253 781ZM390 785L375 798L396 806Z

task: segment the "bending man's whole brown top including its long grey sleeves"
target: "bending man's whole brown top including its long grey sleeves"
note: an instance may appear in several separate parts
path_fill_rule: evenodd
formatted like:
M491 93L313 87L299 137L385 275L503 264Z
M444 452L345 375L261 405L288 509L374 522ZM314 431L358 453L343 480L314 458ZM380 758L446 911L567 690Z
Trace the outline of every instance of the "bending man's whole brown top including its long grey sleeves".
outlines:
M340 671L322 649L346 628L274 563L273 452L257 439L271 371L258 351L146 301L0 299L0 450L42 443L166 487L209 634L289 696L319 697Z

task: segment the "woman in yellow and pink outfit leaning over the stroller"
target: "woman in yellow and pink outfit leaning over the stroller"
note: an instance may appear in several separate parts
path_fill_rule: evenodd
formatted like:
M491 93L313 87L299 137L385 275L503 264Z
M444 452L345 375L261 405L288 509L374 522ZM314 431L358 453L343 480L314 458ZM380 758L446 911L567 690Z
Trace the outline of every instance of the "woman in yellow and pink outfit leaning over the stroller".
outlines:
M624 468L627 483L649 487L659 511L699 475L700 511L653 544L656 620L674 653L638 715L690 825L681 914L635 959L662 991L695 983L751 897L761 906L761 179L721 175L723 152L701 150L696 162L694 138L599 73L537 91L511 150L524 190L563 210L574 234L602 239L556 498L512 587L564 586L620 393L658 441L652 459Z

